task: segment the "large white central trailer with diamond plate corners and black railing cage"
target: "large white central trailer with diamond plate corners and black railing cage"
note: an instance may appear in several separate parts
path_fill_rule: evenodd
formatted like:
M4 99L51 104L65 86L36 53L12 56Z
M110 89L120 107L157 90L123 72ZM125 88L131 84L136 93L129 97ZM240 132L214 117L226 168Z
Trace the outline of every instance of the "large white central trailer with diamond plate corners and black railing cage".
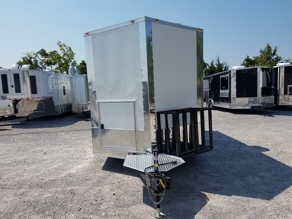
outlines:
M211 110L209 135L200 111L203 29L141 17L86 32L84 40L94 154L213 148Z

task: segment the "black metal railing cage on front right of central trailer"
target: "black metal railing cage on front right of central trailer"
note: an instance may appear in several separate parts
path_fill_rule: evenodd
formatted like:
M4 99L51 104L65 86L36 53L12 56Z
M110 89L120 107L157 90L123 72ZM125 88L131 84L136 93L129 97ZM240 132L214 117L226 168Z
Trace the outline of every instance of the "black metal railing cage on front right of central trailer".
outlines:
M208 111L207 118L205 111ZM211 109L188 108L157 112L157 147L160 153L178 157L212 150Z

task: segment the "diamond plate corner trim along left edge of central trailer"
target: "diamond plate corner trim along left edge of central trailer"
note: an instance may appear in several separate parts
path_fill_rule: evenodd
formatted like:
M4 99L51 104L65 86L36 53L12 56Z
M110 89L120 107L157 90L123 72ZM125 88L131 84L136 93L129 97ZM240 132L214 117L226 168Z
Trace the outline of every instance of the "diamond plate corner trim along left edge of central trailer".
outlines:
M96 101L96 88L95 88L95 74L94 74L94 62L93 62L93 50L92 50L92 37L84 37L85 44L85 57L88 79L88 93L91 107L91 126L98 128L98 109Z

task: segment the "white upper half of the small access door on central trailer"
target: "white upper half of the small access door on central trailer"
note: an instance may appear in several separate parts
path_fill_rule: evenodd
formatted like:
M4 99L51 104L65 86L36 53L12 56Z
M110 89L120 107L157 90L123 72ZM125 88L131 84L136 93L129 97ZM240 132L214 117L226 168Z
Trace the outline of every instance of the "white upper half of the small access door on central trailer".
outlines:
M134 102L101 102L99 112L105 129L135 130Z

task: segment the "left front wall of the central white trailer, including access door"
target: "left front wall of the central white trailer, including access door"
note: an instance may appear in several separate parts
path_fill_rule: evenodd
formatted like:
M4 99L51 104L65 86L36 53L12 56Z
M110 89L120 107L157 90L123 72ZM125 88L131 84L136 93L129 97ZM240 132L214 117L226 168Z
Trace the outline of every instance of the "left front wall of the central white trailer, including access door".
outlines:
M100 129L100 115L106 114L103 106L107 104L112 104L115 108L112 113L117 115L124 111L123 107L128 108L132 104L126 103L128 100L133 100L135 112L132 112L132 117L135 118L135 129L144 131L139 28L139 23L135 23L85 37L85 46L89 48L86 51L86 60L89 62L88 66L93 67L87 69L93 153L124 157L125 151L120 149L132 147L132 150L137 150L136 134L133 135L132 130L127 129L128 124L124 124L124 128L117 128L113 126L114 123L107 122L104 129ZM144 35L144 39L145 37ZM147 66L147 63L142 64ZM112 117L114 118L118 117ZM121 143L121 136L125 139L128 137L129 142ZM133 138L135 144L131 146ZM112 150L114 145L117 150Z

